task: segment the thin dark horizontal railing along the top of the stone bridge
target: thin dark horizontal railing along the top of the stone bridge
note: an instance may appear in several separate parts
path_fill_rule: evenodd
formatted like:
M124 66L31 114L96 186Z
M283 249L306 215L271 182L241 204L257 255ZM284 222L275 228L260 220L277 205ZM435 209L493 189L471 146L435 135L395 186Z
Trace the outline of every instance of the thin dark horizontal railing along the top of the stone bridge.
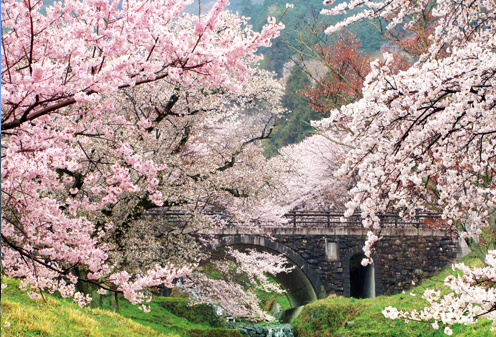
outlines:
M397 213L378 214L382 227L386 228L425 228L441 218L438 213L417 213L409 220L401 218ZM288 224L293 227L362 227L359 213L344 218L339 211L291 211L285 214Z

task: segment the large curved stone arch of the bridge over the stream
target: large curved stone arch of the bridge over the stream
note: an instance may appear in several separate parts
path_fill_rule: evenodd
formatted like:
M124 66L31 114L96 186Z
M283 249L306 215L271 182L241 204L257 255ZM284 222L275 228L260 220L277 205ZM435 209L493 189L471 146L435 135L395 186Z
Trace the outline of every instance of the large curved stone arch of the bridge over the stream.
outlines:
M284 275L276 275L274 279L286 290L291 307L297 308L320 298L325 298L325 290L319 276L312 267L294 250L276 242L255 235L230 235L222 237L213 249L233 246L255 248L272 253L283 254L295 268Z

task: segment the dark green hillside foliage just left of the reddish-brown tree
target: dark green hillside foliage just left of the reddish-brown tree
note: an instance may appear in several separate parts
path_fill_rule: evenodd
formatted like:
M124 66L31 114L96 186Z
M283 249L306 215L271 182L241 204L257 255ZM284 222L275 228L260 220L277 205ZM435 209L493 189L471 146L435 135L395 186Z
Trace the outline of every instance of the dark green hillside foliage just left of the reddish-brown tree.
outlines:
M320 119L321 116L312 111L305 99L297 94L298 90L309 84L307 74L294 66L282 98L282 105L291 112L277 121L271 138L265 143L265 156L275 156L281 147L298 143L312 133L310 121Z

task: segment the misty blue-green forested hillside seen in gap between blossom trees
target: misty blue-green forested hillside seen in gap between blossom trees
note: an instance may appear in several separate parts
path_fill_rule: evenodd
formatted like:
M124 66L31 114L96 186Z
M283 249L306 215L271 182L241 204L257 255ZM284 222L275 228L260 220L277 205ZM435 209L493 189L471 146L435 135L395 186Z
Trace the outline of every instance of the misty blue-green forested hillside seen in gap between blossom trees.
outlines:
M341 3L338 0L336 3ZM286 0L234 0L229 6L231 10L238 10L240 14L250 17L249 23L259 30L267 23L268 16L280 18L286 11ZM325 16L319 14L325 8L320 0L293 1L294 7L289 9L282 22L286 26L285 30L277 39L273 41L270 48L261 48L260 52L264 55L261 67L275 71L278 76L282 76L284 65L295 56L295 49L301 49L302 42L312 43L317 39L323 41L323 44L333 43L336 36L326 36L320 33L317 37L311 37L309 29L315 29L318 26L329 26L335 24L344 18L344 15ZM351 11L350 14L355 14ZM386 40L379 34L369 21L359 22L350 28L350 32L355 33L361 43L361 50L365 54L376 54L381 45ZM308 38L308 40L307 40ZM301 41L301 40L304 41ZM304 85L310 85L311 81L304 71L291 69L291 74L286 82L285 96L283 106L288 109L288 114L276 121L271 139L266 142L265 155L274 156L282 146L297 143L303 140L311 133L309 122L319 119L320 115L312 111L307 105L306 99L299 96L298 90L304 89Z

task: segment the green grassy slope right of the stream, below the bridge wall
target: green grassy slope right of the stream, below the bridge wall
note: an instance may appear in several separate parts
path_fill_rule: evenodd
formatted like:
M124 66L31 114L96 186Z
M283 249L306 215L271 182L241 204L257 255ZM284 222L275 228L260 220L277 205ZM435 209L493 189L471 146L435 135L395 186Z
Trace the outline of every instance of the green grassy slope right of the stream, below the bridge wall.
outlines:
M481 266L481 262L472 256L467 256L463 262L468 265ZM453 274L451 268L445 269L437 276L427 279L418 287L406 294L394 296L380 296L375 299L350 299L343 297L329 297L308 305L294 323L299 337L327 337L327 336L381 336L381 337L409 337L409 336L446 336L442 330L432 329L430 324L384 318L382 310L388 306L400 310L411 311L421 309L427 305L422 299L426 288L438 288L447 291L443 280L448 274ZM353 327L346 328L347 321L355 322ZM453 327L454 336L496 336L490 332L491 323L481 320L471 326L457 325Z

